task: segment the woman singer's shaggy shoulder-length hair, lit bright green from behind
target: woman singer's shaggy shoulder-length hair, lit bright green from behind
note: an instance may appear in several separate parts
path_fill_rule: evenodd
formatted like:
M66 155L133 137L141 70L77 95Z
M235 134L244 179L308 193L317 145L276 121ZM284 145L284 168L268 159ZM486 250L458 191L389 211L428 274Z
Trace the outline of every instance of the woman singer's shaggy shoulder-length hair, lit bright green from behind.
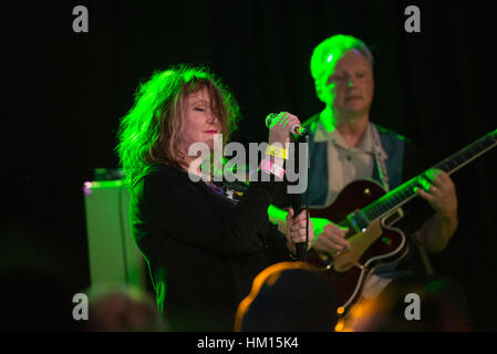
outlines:
M178 149L184 134L186 98L207 88L210 110L220 123L226 144L239 122L239 107L225 84L205 67L185 64L154 72L141 84L135 104L121 118L116 147L125 184L134 186L147 168L166 164L183 168L185 155Z

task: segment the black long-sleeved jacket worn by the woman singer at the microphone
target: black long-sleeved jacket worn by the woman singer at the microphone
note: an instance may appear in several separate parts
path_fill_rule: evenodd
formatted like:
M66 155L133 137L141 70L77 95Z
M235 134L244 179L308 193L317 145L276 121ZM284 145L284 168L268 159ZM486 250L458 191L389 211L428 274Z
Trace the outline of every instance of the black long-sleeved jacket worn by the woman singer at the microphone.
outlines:
M173 331L231 331L252 279L289 260L284 235L267 214L278 188L253 181L234 202L166 165L134 186L133 236Z

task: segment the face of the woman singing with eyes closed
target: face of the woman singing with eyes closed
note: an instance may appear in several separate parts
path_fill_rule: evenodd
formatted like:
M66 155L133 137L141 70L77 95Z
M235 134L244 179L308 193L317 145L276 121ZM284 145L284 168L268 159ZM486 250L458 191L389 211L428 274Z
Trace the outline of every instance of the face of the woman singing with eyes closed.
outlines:
M206 87L190 94L184 107L185 131L180 148L188 155L194 143L205 143L214 149L214 135L221 133L221 125L210 110L210 95Z

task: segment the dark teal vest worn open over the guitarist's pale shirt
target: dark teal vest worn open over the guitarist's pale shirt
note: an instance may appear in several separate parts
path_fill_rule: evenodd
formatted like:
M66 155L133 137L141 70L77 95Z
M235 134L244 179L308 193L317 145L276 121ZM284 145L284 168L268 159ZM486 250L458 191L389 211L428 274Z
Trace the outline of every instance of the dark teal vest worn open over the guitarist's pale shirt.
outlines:
M318 115L319 117L319 115ZM314 142L315 117L310 124L309 134L309 206L323 207L328 196L328 142ZM403 181L403 164L405 140L402 136L374 125L380 133L380 140L387 158L385 160L389 174L390 189L398 187ZM332 168L332 166L331 166ZM374 162L372 179L382 185L377 171L377 163Z

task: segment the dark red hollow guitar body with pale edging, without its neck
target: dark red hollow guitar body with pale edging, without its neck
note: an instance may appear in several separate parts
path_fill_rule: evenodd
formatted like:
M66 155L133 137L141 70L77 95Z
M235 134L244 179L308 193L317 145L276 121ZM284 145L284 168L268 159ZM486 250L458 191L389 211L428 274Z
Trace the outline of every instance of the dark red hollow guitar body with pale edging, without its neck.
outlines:
M312 218L329 219L350 228L346 239L351 242L351 250L334 259L323 257L313 249L308 256L308 262L323 269L325 275L330 278L336 289L339 303L345 312L361 299L364 283L374 269L402 259L408 251L404 233L389 227L386 222L392 215L402 217L400 209L371 221L363 230L351 228L348 216L384 195L385 191L379 184L356 180L343 188L331 206L310 209Z

